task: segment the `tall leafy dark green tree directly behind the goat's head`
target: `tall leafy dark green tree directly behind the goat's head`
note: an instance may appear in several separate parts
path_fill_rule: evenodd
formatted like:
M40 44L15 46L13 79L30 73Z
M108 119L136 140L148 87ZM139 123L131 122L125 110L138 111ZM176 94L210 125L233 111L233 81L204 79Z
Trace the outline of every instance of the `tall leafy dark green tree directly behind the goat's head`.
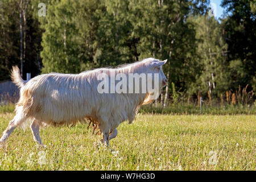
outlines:
M199 3L200 2L200 3ZM195 55L195 31L187 22L189 16L203 14L207 1L131 1L133 35L138 41L139 59L155 57L168 59L164 72L168 84L174 82L182 91L189 88L197 65ZM165 97L168 97L168 85ZM163 95L161 95L163 104Z

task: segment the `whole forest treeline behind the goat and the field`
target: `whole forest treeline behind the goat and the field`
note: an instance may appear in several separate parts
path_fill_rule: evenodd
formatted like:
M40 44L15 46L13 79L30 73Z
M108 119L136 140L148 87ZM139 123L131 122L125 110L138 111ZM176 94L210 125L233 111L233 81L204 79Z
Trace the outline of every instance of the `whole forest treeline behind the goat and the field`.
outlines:
M0 80L20 65L20 0L0 2ZM22 1L23 3L26 1ZM38 4L46 4L46 17ZM34 0L23 23L24 70L81 71L168 59L164 96L220 97L239 85L256 91L255 1L222 1L226 13L208 16L209 1ZM25 36L26 35L26 36ZM169 94L171 93L171 94Z

